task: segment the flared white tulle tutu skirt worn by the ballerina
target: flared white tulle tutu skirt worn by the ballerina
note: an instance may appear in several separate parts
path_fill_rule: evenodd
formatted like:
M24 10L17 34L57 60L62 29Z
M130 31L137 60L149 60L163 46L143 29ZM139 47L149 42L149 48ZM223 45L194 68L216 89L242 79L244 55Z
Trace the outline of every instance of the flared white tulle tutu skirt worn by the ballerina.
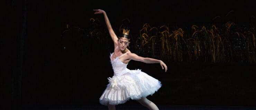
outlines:
M161 86L161 82L141 70L130 70L120 76L108 78L109 84L100 97L100 103L117 105L129 99L138 100L141 97L153 95Z

